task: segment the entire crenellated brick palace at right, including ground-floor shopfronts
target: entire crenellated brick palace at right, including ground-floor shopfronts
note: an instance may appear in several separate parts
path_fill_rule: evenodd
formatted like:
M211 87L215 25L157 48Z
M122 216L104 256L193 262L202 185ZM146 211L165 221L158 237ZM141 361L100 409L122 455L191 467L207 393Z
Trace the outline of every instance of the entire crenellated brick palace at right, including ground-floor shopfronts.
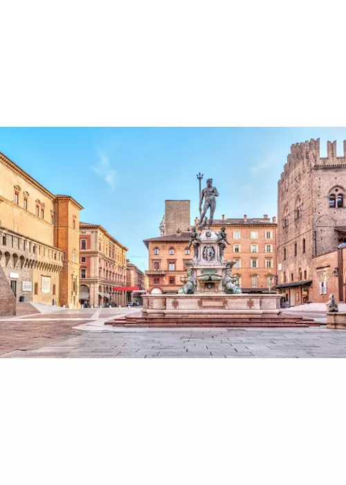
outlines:
M277 190L277 290L290 306L325 303L331 292L345 301L346 141L295 143Z

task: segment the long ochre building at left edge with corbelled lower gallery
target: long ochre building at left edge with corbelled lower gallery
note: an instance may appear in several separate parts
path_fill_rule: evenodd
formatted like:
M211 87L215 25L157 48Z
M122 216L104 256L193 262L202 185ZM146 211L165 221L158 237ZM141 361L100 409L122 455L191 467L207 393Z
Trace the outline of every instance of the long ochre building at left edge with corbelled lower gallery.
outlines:
M0 153L0 265L17 300L78 306L78 244L74 265L70 244L81 209Z

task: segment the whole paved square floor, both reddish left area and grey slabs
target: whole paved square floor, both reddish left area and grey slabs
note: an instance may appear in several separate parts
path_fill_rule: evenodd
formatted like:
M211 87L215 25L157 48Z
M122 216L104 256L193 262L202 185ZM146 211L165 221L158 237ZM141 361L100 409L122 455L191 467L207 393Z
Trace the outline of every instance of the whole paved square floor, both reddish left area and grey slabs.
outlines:
M0 357L346 358L346 331L325 326L158 330L104 325L129 312L124 308L22 312L0 319Z

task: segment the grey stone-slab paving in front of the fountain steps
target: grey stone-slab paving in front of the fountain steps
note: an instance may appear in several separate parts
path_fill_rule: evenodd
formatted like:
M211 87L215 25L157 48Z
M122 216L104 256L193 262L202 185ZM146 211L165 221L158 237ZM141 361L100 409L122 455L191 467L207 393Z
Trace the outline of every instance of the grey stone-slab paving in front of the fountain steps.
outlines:
M82 326L84 327L84 326ZM3 358L345 358L346 332L325 327L91 330Z

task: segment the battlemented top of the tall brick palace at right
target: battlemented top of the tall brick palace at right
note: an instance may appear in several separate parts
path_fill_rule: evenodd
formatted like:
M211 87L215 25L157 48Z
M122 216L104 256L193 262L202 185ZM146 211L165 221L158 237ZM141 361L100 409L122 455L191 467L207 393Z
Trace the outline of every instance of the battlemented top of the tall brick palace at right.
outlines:
M346 140L343 142L343 157L336 156L336 141L327 141L327 157L320 157L320 139L311 139L304 143L293 143L291 153L287 156L284 171L281 174L279 184L295 170L299 165L302 169L307 168L334 168L346 167Z

